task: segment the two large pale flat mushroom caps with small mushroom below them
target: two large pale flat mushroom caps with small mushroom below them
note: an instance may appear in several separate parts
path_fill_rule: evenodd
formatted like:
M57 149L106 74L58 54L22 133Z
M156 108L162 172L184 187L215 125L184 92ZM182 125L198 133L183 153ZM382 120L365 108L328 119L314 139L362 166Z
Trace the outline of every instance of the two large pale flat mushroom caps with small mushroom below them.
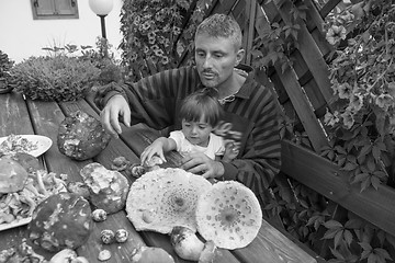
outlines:
M213 262L217 248L248 245L262 222L259 202L245 185L236 181L211 184L173 168L137 179L125 209L136 230L170 235L180 258L200 263Z

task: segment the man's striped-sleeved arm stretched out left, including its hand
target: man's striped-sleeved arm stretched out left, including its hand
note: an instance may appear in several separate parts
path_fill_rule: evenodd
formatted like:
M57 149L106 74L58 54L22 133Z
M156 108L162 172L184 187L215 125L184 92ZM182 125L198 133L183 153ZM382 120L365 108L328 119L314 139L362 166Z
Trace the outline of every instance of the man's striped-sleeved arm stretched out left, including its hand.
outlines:
M114 103L109 108L109 103L115 95L122 95L127 102L129 125L145 123L149 127L160 130L174 124L177 101L195 89L199 82L198 78L192 67L185 67L161 71L136 83L113 82L102 87L95 93L94 103L100 110L112 110L108 125L114 124L115 127L111 126L113 130L120 132L116 127L119 117L122 117L124 123L127 119ZM111 129L109 128L109 130Z

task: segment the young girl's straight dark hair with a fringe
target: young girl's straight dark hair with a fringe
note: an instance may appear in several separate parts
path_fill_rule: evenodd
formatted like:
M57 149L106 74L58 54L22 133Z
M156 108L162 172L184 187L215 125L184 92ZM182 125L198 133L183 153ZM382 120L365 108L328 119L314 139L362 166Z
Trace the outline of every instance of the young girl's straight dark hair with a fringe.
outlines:
M205 88L188 95L180 108L180 119L187 122L203 121L215 127L222 114L222 107L216 99L214 88Z

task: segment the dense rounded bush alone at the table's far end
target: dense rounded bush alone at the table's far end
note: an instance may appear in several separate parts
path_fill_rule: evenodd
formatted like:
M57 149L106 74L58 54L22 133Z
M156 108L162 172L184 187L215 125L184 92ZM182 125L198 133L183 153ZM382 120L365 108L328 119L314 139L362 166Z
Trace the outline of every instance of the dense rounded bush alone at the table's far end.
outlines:
M81 99L98 80L100 69L91 61L58 55L31 57L11 69L15 91L32 100Z

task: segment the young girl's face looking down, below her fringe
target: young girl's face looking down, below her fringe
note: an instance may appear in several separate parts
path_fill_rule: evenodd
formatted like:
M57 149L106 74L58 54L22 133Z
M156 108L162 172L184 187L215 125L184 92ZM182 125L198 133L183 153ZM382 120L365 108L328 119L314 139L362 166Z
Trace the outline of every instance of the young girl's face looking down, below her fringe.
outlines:
M203 117L200 122L187 122L182 119L182 133L192 145L206 147L212 130L213 126L207 124Z

